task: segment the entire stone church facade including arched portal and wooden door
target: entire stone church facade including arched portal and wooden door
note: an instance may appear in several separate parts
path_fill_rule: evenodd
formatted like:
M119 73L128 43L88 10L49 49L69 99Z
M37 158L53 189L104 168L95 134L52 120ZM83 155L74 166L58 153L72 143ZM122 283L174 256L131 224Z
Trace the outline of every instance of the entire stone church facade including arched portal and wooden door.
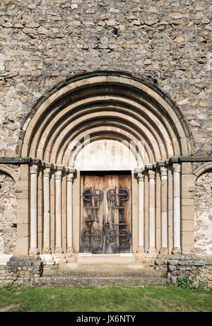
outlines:
M54 2L1 9L0 255L211 284L212 6Z

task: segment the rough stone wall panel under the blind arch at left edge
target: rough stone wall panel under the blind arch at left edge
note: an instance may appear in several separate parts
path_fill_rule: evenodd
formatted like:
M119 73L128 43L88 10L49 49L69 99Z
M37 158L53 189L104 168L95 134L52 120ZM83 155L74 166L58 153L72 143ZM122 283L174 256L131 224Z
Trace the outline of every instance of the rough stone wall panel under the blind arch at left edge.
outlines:
M17 237L15 182L0 171L0 252L13 253Z

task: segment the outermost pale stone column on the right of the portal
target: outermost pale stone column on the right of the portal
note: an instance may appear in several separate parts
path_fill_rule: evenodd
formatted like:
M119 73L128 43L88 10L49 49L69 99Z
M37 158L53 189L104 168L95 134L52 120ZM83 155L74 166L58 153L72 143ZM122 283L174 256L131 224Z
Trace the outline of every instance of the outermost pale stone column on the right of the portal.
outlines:
M172 253L180 253L180 165L173 163L173 249Z

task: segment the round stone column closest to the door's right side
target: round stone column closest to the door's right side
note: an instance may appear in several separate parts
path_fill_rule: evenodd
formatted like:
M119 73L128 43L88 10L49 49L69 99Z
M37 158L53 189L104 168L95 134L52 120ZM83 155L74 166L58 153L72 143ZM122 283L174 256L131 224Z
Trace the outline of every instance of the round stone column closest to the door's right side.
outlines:
M144 175L138 173L139 182L139 248L138 252L144 252Z

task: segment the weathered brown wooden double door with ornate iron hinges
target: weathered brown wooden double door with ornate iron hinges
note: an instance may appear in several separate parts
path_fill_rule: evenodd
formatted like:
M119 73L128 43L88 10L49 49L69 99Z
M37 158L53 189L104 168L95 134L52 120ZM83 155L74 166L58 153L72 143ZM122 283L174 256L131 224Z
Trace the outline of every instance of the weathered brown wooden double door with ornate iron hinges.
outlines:
M81 175L81 252L131 252L131 175Z

